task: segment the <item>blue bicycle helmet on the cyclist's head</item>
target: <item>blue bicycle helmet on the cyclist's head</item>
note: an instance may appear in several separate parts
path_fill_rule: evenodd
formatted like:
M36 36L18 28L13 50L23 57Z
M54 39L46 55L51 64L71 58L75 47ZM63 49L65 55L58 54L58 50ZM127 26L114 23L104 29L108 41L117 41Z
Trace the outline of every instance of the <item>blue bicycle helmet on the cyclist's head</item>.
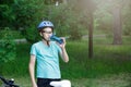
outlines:
M39 25L37 26L37 28L40 30L45 27L51 27L53 28L53 24L50 21L43 21L39 23Z

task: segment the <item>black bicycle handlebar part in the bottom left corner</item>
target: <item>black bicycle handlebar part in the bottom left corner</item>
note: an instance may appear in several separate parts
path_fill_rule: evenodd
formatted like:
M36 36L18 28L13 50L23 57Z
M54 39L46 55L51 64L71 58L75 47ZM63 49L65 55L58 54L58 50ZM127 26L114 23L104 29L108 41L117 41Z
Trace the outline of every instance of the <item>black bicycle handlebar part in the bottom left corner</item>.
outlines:
M0 79L3 83L1 87L20 87L19 85L14 84L14 79L5 79L2 76L0 76Z

